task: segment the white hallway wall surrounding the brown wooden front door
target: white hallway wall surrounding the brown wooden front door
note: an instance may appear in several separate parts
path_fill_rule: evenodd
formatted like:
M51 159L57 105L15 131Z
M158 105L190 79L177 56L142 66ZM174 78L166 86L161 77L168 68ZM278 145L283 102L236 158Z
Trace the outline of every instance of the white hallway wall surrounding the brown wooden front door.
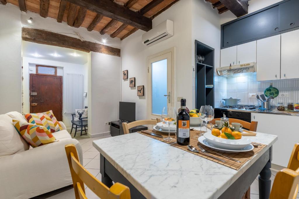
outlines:
M87 54L87 53L86 53ZM52 60L45 60L45 59L37 59L37 58L29 58L29 57L23 57L23 112L29 113L30 112L30 103L29 103L29 74L35 73L35 66L36 64L40 65L47 65L47 66L56 66L57 67L57 75L62 76L62 79L64 81L63 76L65 76L66 73L78 73L84 75L84 92L87 92L88 85L87 85L87 64L81 65L81 64L71 64L66 62L60 62L60 61L52 61ZM32 71L30 71L30 68ZM63 94L66 93L66 87L63 82ZM67 101L65 100L65 95L63 95L63 122L65 123L65 126L69 129L71 128L71 114L64 113L64 107ZM87 98L84 98L84 104L87 106Z

